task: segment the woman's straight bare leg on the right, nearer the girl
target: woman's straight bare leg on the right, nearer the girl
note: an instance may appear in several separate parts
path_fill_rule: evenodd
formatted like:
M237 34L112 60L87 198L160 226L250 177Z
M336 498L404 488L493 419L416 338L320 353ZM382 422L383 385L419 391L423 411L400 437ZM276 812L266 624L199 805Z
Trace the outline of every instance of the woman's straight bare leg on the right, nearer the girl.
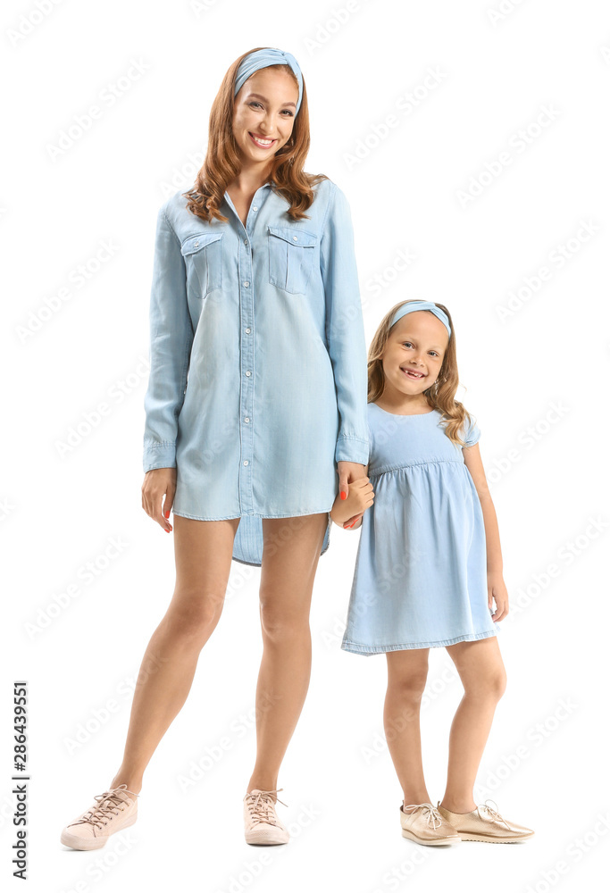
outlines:
M280 764L305 703L312 666L309 609L327 523L326 513L263 518L263 659L256 685L256 762L248 792L277 789Z

